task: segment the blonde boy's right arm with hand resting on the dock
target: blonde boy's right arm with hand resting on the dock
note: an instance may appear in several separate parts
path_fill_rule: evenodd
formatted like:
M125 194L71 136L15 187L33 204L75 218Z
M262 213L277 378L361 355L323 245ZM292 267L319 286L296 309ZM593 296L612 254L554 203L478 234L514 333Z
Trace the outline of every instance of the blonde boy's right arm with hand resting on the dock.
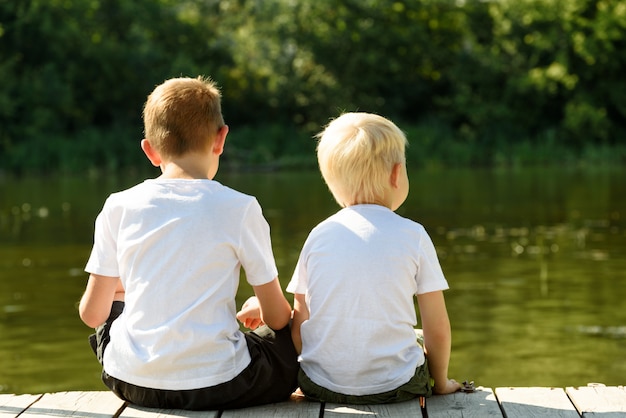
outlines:
M452 337L443 292L417 295L417 303L424 329L424 346L428 352L428 369L435 380L433 390L437 394L456 392L461 385L454 379L448 379Z

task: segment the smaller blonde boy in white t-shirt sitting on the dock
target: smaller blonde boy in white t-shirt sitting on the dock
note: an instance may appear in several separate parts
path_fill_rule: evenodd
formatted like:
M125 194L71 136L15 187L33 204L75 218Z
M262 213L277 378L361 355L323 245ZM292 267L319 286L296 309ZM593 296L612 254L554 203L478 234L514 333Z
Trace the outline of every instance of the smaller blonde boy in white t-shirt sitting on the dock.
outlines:
M430 376L435 393L458 390L447 375L448 284L424 228L394 213L409 191L404 134L381 116L346 113L318 138L320 171L343 209L311 231L287 287L300 388L354 404L428 396Z

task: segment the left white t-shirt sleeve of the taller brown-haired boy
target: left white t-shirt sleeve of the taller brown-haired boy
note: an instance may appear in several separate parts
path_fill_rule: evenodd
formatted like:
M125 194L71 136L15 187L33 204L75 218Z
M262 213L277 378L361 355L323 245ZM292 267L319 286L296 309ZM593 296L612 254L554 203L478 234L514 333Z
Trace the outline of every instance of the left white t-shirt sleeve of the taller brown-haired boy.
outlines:
M87 273L119 277L116 236L111 228L110 213L105 203L95 222L94 243L85 266Z

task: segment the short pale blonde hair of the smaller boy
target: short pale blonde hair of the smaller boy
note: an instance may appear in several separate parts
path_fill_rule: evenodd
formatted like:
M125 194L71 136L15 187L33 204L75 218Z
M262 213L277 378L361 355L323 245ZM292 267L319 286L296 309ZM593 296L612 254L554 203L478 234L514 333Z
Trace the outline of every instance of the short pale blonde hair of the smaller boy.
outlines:
M389 184L394 164L405 163L406 136L390 120L344 113L317 135L317 161L337 203L373 203Z

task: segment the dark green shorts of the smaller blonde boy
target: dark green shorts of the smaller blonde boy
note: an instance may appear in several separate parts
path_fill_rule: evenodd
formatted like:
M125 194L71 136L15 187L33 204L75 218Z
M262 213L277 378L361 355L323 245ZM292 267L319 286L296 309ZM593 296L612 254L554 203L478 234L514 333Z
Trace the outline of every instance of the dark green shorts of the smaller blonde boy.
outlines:
M372 395L346 395L333 392L317 383L300 370L298 375L300 390L304 395L315 401L331 402L352 405L370 405L393 402L404 402L415 399L418 396L431 396L432 386L430 384L430 373L428 371L428 361L415 370L415 374L407 383L397 389L388 392L376 393Z

